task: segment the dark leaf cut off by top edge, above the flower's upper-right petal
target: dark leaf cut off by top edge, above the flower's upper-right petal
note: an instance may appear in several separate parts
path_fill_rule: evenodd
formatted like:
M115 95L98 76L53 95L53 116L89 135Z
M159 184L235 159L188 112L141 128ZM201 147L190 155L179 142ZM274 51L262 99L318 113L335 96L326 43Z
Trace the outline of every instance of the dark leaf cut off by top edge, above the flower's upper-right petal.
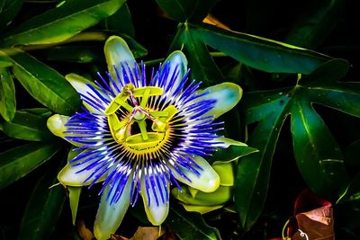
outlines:
M202 22L209 13L215 0L157 0L157 4L170 18L178 22Z

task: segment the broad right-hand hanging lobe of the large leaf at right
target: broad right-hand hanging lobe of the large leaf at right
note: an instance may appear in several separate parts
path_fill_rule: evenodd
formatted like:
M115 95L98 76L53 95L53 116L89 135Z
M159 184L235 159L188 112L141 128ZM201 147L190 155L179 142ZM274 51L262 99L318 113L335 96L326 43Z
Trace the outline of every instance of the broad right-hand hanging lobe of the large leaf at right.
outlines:
M310 102L293 102L293 151L305 182L321 196L342 194L349 181L337 141Z

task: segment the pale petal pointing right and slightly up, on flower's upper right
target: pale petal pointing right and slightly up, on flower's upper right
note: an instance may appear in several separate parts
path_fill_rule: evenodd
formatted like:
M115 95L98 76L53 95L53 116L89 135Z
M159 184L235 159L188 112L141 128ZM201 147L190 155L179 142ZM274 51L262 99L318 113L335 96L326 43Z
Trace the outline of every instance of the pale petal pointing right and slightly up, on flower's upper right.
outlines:
M236 106L242 96L242 88L238 84L228 82L207 87L196 93L201 94L204 92L207 92L207 94L189 102L189 104L201 100L216 100L214 108L204 114L204 116L213 115L215 118L220 117L223 113Z

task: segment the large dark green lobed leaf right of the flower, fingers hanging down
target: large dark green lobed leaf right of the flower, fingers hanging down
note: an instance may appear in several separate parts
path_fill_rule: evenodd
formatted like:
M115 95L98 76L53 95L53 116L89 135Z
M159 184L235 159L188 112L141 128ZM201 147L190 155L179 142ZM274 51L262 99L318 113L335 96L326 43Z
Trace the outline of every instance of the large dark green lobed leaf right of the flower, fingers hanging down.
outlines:
M294 156L305 182L317 194L329 199L343 193L348 183L344 157L312 104L327 105L360 116L353 103L360 102L360 84L352 83L349 87L349 83L336 81L347 71L344 63L331 60L293 87L245 94L242 102L247 124L257 122L247 145L260 151L242 157L238 163L235 202L245 230L253 226L264 208L277 139L289 114ZM339 72L331 76L336 69ZM320 75L322 71L324 75ZM325 74L327 71L330 73Z

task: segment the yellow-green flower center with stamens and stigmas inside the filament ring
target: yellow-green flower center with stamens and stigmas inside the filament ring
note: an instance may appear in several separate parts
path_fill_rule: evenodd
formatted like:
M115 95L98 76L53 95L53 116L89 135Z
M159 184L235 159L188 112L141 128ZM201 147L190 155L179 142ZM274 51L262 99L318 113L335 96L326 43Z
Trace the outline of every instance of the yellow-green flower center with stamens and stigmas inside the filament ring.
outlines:
M157 86L135 88L133 84L127 84L106 108L112 138L131 153L154 153L166 143L170 132L169 120L174 117L177 109L171 104L163 111L147 108L149 97L162 93L163 89ZM121 107L128 114L120 120L116 111ZM131 131L133 124L139 126L139 133ZM151 128L148 124L151 124Z

